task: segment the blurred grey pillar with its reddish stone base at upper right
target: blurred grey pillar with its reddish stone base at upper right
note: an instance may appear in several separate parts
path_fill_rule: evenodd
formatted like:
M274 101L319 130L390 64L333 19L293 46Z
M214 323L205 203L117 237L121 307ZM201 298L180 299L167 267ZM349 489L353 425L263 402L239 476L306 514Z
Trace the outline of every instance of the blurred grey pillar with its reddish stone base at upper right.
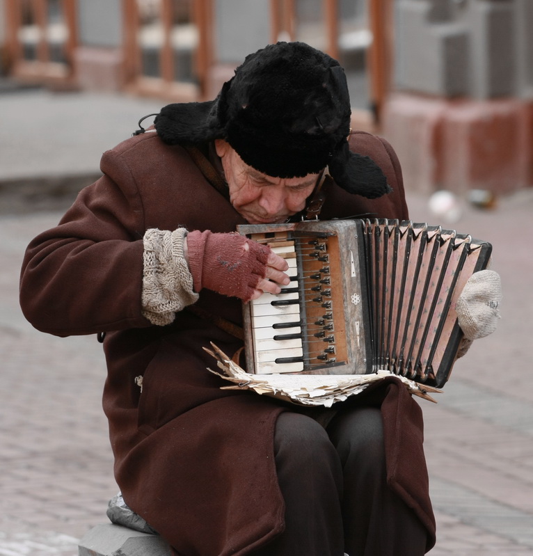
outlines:
M383 132L406 187L533 185L533 1L397 0Z

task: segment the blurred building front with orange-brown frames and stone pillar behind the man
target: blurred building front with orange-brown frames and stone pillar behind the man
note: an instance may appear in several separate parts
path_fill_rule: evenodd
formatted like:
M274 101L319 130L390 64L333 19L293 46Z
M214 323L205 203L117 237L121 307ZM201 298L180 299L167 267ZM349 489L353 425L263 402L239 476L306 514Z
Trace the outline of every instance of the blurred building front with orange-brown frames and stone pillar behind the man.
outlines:
M411 188L533 185L532 0L0 0L0 17L10 79L169 101L302 40L342 63L353 125L390 139Z

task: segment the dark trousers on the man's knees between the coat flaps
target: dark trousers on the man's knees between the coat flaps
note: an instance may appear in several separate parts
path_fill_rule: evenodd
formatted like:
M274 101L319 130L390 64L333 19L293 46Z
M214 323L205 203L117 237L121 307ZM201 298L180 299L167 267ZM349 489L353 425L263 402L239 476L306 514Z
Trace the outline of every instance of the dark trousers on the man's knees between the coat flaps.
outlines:
M424 527L386 483L378 408L343 411L325 429L282 413L274 449L285 532L255 556L424 554Z

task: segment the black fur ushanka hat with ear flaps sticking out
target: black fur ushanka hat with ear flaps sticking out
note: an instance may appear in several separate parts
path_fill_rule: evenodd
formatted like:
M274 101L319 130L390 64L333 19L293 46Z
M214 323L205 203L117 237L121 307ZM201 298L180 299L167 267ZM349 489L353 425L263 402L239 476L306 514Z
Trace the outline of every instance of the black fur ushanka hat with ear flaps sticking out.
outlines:
M273 177L303 177L328 166L349 193L390 191L381 168L349 150L351 106L344 70L302 42L278 42L246 56L215 100L169 104L155 118L162 141L198 145L221 138Z

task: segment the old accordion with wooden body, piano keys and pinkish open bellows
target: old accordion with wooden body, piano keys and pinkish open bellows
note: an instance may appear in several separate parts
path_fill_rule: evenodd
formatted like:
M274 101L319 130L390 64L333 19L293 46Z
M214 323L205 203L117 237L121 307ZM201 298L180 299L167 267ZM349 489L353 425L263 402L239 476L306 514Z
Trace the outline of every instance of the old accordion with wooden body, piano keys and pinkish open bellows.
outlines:
M491 245L411 221L241 225L285 257L291 283L245 303L248 372L389 370L445 384L462 337L455 305Z

